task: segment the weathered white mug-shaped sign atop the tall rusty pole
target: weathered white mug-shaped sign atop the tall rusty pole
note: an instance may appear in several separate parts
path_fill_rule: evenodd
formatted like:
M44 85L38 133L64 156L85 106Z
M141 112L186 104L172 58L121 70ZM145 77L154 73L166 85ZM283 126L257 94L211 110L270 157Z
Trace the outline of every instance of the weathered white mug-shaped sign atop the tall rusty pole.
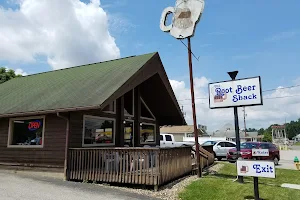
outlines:
M177 39L192 37L203 10L204 0L176 0L175 7L164 9L161 15L160 29L170 32ZM168 15L172 13L172 23L166 25Z

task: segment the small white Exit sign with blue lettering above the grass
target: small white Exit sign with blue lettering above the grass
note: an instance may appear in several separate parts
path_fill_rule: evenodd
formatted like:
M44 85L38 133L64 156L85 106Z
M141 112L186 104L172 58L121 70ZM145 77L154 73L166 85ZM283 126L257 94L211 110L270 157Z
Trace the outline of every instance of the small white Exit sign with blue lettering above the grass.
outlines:
M237 160L239 176L275 178L275 165L273 161Z

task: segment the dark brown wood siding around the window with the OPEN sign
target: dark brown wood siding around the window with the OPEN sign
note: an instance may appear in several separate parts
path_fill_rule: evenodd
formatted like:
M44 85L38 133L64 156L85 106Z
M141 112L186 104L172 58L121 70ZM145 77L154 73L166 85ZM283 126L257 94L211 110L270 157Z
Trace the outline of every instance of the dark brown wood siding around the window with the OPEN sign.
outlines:
M63 167L66 124L54 114L46 115L43 148L8 148L9 118L1 118L0 163Z

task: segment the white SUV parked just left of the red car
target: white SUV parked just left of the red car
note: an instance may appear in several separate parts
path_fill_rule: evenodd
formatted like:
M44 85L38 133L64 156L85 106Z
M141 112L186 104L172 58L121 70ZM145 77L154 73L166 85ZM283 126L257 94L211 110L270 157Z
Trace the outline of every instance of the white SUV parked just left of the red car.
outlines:
M222 160L222 158L226 158L227 152L229 149L236 147L236 144L231 141L206 141L202 144L202 146L213 145L214 156L218 160Z

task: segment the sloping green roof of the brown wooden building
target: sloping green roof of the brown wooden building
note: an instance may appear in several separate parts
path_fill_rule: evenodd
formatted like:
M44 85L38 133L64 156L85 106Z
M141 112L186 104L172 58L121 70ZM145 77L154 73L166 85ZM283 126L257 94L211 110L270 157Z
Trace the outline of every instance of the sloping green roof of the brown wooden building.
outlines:
M100 106L154 55L12 79L0 84L0 116Z

